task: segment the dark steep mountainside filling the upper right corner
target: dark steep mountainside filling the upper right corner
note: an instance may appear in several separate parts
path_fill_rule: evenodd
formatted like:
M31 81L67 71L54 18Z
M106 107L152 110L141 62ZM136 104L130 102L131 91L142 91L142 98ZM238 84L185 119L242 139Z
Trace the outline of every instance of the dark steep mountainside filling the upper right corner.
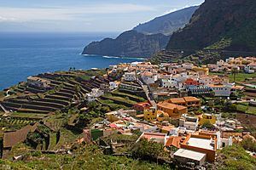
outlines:
M206 0L166 49L256 51L256 1Z

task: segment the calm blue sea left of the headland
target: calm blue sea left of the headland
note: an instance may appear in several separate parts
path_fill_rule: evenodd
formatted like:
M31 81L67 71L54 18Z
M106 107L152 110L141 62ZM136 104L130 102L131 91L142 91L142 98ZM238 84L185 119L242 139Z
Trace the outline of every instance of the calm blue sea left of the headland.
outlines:
M122 59L81 55L85 45L116 33L0 33L0 90L44 72L106 68Z

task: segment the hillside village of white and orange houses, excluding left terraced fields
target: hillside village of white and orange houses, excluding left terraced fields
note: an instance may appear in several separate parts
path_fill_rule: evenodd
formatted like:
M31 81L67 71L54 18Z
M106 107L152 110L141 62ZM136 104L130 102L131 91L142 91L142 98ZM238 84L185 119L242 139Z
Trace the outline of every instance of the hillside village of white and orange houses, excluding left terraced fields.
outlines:
M241 143L243 139L255 142L255 138L241 122L222 116L222 111L207 105L207 101L202 99L224 99L224 105L229 105L229 102L232 105L236 101L249 101L254 105L253 97L242 99L239 94L245 87L255 87L248 83L238 85L230 82L229 77L210 72L230 72L234 77L239 71L253 74L255 61L250 57L229 58L218 61L216 65L200 67L190 63L151 65L149 62L111 65L109 75L124 72L122 81L116 82L119 88L137 92L141 88L132 83L140 84L148 101L133 105L132 110L106 113L103 122L84 129L84 141L91 143L113 133L132 135L138 130L141 135L137 141L148 139L163 144L180 164L192 162L201 166L205 161L213 162L217 150ZM255 153L251 155L255 156Z

